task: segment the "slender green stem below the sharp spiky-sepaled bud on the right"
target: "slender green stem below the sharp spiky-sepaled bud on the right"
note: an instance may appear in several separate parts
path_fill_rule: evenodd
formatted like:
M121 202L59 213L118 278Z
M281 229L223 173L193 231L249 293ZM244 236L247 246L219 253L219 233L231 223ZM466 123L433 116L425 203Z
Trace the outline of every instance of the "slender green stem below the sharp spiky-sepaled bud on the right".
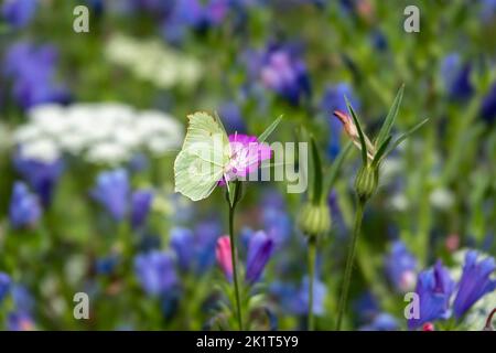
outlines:
M362 218L364 217L365 204L366 204L365 200L358 199L357 208L356 208L356 213L355 213L355 224L353 227L352 245L349 247L348 256L346 259L346 268L345 268L345 274L344 274L343 289L342 289L341 297L339 297L339 304L337 306L337 322L336 322L337 331L341 330L343 314L346 309L346 302L348 299L348 290L349 290L349 285L352 282L353 264L355 261L356 246L358 244L358 236L360 234Z

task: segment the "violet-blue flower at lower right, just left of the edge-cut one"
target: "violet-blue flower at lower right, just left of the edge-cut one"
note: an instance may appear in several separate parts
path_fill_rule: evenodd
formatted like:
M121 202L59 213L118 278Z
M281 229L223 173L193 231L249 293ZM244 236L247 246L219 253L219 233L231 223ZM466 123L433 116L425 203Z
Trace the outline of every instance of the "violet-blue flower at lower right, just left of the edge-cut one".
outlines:
M454 286L448 269L441 261L438 261L433 268L421 271L416 288L420 300L420 315L417 319L409 319L408 327L417 329L425 322L448 319Z

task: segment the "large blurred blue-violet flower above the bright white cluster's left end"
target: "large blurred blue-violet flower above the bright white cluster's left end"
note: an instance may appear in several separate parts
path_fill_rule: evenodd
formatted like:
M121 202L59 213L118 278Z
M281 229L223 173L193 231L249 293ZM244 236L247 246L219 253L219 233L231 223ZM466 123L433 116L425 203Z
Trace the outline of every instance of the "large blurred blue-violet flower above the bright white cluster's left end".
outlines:
M3 74L12 79L12 96L23 108L42 103L67 103L69 93L55 82L57 51L52 45L18 42L9 47Z

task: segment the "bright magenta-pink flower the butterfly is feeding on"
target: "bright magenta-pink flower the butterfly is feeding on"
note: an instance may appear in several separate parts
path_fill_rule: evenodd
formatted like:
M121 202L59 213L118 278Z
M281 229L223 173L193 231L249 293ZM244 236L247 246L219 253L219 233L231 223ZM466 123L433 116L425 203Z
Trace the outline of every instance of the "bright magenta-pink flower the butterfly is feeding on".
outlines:
M230 162L225 174L227 181L241 178L246 180L248 174L255 172L262 161L272 157L272 150L267 143L258 142L256 136L242 133L229 135ZM225 180L219 184L224 185Z

